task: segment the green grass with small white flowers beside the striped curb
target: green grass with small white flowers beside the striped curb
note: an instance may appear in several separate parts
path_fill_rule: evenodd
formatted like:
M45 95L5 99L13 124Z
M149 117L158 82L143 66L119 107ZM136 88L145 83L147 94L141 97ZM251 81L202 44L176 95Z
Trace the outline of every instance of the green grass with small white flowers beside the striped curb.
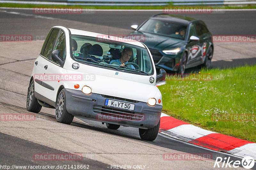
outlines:
M166 81L159 86L163 112L204 129L256 142L256 121L213 121L212 115L254 115L256 65L203 69L211 81ZM220 120L220 119L219 119Z

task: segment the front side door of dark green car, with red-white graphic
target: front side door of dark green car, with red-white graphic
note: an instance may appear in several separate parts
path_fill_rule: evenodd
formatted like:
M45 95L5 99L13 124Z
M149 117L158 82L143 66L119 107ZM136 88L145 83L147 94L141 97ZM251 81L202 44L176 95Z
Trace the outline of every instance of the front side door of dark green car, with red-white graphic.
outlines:
M200 25L198 22L192 23L189 28L188 40L191 36L196 36L199 38L198 41L190 40L187 44L188 49L188 61L187 67L194 67L198 65L199 60L202 57L202 46L204 44L204 39L202 37L202 31L200 30Z

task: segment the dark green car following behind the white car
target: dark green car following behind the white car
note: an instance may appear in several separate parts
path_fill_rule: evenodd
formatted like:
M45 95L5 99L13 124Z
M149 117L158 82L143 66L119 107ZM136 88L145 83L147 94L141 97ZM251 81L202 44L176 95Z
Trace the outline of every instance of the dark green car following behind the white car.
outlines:
M148 46L156 68L178 71L202 65L210 67L212 34L201 20L170 14L157 14L139 27L131 26L132 35L140 35ZM145 39L143 39L143 36Z

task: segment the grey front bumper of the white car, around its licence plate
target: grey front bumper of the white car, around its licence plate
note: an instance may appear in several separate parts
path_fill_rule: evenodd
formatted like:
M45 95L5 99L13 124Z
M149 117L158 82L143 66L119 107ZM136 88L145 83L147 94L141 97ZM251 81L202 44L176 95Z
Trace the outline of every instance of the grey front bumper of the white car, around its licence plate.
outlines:
M65 89L67 111L76 117L103 123L119 124L141 129L150 129L159 122L162 106L149 106L145 102L127 102L91 93L85 95L80 90ZM106 99L135 104L133 111L115 109L105 106Z

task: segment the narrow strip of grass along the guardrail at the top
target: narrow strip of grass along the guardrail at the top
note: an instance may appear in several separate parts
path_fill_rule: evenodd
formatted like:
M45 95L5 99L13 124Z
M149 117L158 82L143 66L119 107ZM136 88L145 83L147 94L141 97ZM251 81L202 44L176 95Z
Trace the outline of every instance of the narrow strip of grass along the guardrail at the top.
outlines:
M196 5L198 7L200 5ZM202 5L210 6L210 5ZM84 5L36 5L36 4L12 4L12 3L0 3L0 7L13 7L13 8L82 8L82 9L149 9L149 10L162 10L164 7L182 7L173 6L169 3L167 6L84 6ZM193 7L193 6L191 6ZM246 5L246 6L211 6L212 9L256 9L256 5Z

